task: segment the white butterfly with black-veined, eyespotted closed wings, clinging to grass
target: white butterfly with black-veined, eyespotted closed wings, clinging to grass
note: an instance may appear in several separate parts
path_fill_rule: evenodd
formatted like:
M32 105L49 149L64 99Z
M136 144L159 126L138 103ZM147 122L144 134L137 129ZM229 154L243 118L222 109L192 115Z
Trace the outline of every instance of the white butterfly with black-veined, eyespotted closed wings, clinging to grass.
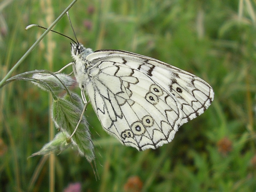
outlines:
M73 72L102 127L125 146L156 149L204 113L214 98L204 80L162 61L71 43Z

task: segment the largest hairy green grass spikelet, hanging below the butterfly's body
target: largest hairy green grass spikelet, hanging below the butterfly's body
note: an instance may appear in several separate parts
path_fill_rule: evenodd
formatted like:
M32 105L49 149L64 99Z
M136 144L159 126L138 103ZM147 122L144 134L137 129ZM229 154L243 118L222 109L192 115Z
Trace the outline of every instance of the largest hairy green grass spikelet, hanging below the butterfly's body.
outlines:
M73 92L70 92L70 96L71 98L68 95L58 98L53 101L52 105L52 119L56 127L63 132L67 132L68 136L74 132L83 111L81 98ZM73 101L73 103L69 100ZM88 123L84 116L82 116L82 120L71 141L78 148L79 154L85 156L89 162L92 162L95 158L94 147Z

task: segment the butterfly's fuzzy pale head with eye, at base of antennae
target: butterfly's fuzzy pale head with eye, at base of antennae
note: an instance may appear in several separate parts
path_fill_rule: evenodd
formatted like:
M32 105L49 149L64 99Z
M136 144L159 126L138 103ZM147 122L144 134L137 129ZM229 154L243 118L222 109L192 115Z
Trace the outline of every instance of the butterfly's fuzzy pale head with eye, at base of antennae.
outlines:
M85 60L86 56L93 53L92 49L85 48L81 43L71 43L71 56L75 61Z

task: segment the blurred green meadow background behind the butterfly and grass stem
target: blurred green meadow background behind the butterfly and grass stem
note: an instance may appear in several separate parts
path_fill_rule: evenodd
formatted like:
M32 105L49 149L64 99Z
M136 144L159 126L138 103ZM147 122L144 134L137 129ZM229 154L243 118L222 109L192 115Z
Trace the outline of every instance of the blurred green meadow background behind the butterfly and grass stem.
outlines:
M44 32L24 28L50 26L69 3L0 2L0 79ZM255 12L252 0L78 0L69 14L85 47L135 52L186 70L212 85L214 101L171 143L143 152L104 132L89 105L96 180L71 148L53 155L54 172L49 156L28 158L49 141L49 94L30 82L7 84L0 89L0 191L63 191L71 183L81 191L255 191ZM74 38L66 16L54 30ZM48 33L12 75L59 70L72 61L69 43Z

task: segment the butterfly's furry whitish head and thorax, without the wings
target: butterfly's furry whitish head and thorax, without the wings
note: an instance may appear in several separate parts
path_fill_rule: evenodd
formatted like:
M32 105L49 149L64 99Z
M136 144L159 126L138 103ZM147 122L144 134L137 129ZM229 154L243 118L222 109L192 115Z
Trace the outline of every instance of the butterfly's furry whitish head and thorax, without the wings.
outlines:
M71 43L71 56L75 61L73 72L80 88L86 84L88 79L87 68L89 67L89 62L86 60L86 57L91 53L93 53L92 49L85 48L83 44Z

